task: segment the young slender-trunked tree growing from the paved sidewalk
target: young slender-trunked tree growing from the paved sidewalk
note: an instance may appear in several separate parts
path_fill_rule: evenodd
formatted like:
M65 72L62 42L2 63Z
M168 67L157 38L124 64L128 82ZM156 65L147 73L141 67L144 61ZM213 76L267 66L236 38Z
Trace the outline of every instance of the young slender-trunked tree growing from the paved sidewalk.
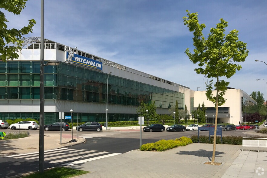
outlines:
M195 47L194 54L186 49L185 53L193 64L198 64L199 68L195 68L197 74L205 75L212 79L209 84L206 82L206 96L216 106L215 130L213 140L213 155L211 164L214 164L216 150L216 130L218 106L222 106L226 99L223 98L227 90L229 82L219 80L219 77L230 78L236 70L240 70L241 66L236 62L245 61L249 51L246 49L246 43L238 41L238 31L232 30L227 35L225 28L228 26L227 21L220 19L220 23L216 28L210 28L208 37L205 38L202 31L206 27L205 24L198 23L198 14L190 13L186 10L188 17L183 17L184 25L189 31L193 31L193 45ZM216 81L213 84L213 79ZM213 87L216 90L216 96L213 96Z

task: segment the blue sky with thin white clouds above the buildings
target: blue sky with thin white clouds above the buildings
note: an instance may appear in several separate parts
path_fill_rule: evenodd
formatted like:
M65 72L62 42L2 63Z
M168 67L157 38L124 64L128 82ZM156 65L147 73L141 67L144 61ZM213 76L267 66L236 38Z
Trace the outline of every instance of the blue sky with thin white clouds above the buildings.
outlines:
M239 31L249 55L240 71L226 81L247 94L260 91L267 97L267 1L264 0L45 0L44 37L126 67L163 78L192 90L205 90L207 79L194 71L184 53L193 52L193 33L183 23L186 10L198 12L199 23L210 28L223 18L226 34ZM8 28L37 22L33 33L41 34L41 0L29 0L21 15L6 12ZM1 9L2 12L5 12ZM200 87L200 88L197 88Z

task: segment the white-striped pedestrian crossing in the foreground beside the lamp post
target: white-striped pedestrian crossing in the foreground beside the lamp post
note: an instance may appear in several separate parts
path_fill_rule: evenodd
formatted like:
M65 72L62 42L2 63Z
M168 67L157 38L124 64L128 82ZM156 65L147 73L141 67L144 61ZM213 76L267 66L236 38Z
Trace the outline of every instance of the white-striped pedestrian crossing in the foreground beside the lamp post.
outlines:
M85 150L85 149L68 149L59 148L44 151L44 161L48 163L60 163L65 166L85 163L88 161L98 160L105 157L119 155L121 153L110 153L107 151ZM5 156L5 158L35 160L38 161L39 152L24 153L17 155Z

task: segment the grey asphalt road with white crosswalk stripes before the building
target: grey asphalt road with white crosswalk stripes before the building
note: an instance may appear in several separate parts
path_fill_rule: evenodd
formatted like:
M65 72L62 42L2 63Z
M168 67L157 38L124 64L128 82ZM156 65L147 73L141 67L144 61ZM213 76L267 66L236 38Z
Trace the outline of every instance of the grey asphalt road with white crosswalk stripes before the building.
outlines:
M6 130L17 132L18 130ZM39 134L39 130L30 130L30 134ZM249 133L249 134L245 134ZM58 131L45 131L45 133L58 133ZM74 138L76 137L76 130ZM232 130L222 131L223 135L233 136L252 136L254 130ZM64 134L71 134L71 131L65 131ZM67 147L61 150L48 150L45 152L45 169L54 166L66 166L81 164L88 161L100 159L103 157L123 154L131 150L140 148L140 130L139 131L101 131L101 132L78 132L79 137L86 138L86 142L80 145ZM197 131L185 132L143 132L142 144L152 143L158 140L170 140L182 136L190 137L198 134ZM199 132L200 135L209 135L208 131ZM36 146L38 145L38 140ZM0 165L5 165L2 169L2 175L14 176L21 173L37 171L39 169L38 153L26 153L19 156L0 157ZM5 176L3 176L5 177Z

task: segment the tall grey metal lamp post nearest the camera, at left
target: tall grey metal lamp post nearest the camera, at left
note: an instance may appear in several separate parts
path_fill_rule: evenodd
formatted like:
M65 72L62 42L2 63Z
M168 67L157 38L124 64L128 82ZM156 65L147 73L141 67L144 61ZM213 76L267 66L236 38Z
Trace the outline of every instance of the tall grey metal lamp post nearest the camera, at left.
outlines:
M40 130L39 130L39 173L44 172L44 66L59 65L56 60L44 65L44 0L41 0L41 50L40 50Z

